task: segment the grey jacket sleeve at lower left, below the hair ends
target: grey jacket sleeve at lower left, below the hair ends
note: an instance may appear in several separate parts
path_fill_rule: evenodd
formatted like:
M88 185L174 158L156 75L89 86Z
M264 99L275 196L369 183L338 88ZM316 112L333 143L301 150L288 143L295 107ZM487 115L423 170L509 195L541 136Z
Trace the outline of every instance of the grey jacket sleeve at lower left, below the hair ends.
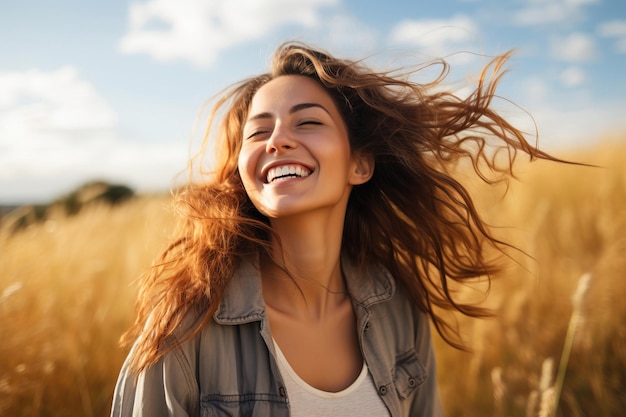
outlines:
M131 352L132 354L132 352ZM192 367L179 348L136 375L129 357L124 362L111 407L111 417L198 417L198 384Z

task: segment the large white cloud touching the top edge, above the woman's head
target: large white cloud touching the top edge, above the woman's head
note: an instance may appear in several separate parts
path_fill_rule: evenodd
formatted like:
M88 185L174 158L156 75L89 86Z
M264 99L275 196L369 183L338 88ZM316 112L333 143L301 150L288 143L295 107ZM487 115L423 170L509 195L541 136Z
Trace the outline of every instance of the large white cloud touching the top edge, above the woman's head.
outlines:
M208 67L221 51L278 28L320 25L320 10L337 1L147 0L131 4L130 31L120 49L160 61L181 59Z

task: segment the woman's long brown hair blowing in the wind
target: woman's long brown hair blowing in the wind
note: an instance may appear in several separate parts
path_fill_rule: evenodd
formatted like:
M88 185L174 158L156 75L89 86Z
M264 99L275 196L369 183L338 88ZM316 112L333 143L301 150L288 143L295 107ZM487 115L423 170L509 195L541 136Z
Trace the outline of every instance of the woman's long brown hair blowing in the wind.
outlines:
M181 214L177 240L142 281L138 316L125 335L137 338L132 369L139 372L167 350L164 340L193 316L185 336L192 337L215 312L242 258L269 250L269 222L250 202L237 170L242 128L256 91L281 75L310 77L331 95L340 110L351 149L375 160L371 180L352 190L342 251L357 265L385 266L430 315L435 327L457 345L452 327L439 313L457 310L484 316L482 308L457 302L452 282L490 277L499 264L490 247L503 250L481 219L469 192L447 167L469 160L484 169L512 174L521 151L554 159L532 146L524 134L491 108L508 54L483 70L473 93L461 99L441 91L447 64L431 83L419 84L390 72L376 72L360 62L337 59L306 45L278 48L270 72L224 91L213 107L204 144L194 161L217 143L218 160L210 176L194 180L176 195ZM395 75L394 75L395 74ZM222 114L217 131L212 129ZM505 164L496 161L505 151ZM201 164L201 163L200 163ZM191 165L201 170L201 165Z

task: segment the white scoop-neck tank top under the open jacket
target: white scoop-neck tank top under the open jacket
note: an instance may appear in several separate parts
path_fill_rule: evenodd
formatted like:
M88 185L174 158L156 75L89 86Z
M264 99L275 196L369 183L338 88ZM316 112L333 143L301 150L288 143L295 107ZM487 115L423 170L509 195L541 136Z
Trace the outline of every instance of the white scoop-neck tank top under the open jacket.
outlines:
M276 341L274 347L278 356L278 368L289 396L292 417L389 417L365 361L361 373L352 385L339 392L327 392L307 384L289 365Z

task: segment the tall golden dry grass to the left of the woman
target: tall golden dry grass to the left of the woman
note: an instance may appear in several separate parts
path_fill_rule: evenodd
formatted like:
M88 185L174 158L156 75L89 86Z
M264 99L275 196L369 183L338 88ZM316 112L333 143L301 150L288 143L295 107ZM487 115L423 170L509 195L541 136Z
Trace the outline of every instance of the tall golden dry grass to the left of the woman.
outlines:
M167 199L96 206L0 235L0 415L106 416L132 282L169 231Z

